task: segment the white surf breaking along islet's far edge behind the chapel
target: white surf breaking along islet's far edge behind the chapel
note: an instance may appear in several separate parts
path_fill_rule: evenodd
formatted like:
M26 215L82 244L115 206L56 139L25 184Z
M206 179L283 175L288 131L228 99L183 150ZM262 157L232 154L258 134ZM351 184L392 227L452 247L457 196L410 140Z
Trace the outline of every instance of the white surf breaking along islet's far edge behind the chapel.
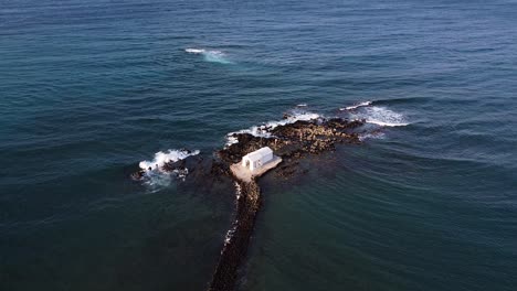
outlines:
M234 133L250 133L255 137L271 138L273 137L273 134L271 133L271 130L275 129L278 126L294 123L298 120L308 121L308 120L314 120L318 118L320 118L320 116L317 114L295 111L291 115L287 115L286 118L279 121L268 121L262 126L255 126L249 129L242 129L239 131L233 131L233 132L228 133L226 147L239 142L239 140L235 137L232 137Z

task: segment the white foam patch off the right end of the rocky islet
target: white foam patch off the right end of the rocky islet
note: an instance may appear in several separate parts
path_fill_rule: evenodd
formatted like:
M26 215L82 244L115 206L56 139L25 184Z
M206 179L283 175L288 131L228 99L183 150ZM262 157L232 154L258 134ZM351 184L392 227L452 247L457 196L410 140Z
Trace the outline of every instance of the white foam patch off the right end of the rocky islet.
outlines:
M403 115L386 107L365 107L359 112L354 114L352 117L365 119L368 123L381 127L405 127L409 125Z

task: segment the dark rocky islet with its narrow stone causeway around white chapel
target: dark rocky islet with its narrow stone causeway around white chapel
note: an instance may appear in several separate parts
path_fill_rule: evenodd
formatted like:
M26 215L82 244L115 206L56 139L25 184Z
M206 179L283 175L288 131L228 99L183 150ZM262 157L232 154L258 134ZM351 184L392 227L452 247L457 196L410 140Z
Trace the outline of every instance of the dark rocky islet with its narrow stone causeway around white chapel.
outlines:
M288 119L289 116L284 116ZM335 150L338 143L360 143L360 128L366 123L365 120L348 120L341 118L331 119L312 119L307 121L298 120L285 122L278 126L262 126L258 133L253 136L246 132L231 133L234 142L224 149L217 151L210 163L201 162L194 169L202 169L203 165L209 169L202 170L204 175L225 175L234 180L238 187L236 211L232 228L228 231L224 246L221 251L219 262L209 283L208 290L222 291L233 290L238 279L238 270L244 260L250 238L253 233L256 215L261 206L261 190L256 179L252 182L239 181L230 171L230 165L241 161L242 157L249 152L263 147L273 149L276 155L283 159L283 162L275 172L278 176L289 176L294 173L297 160L307 154L318 154ZM186 165L189 159L167 163L161 171L168 171L179 174L189 174L192 166ZM133 174L133 179L139 180L145 176L145 171ZM187 171L187 172L186 172ZM193 170L192 173L199 171Z

